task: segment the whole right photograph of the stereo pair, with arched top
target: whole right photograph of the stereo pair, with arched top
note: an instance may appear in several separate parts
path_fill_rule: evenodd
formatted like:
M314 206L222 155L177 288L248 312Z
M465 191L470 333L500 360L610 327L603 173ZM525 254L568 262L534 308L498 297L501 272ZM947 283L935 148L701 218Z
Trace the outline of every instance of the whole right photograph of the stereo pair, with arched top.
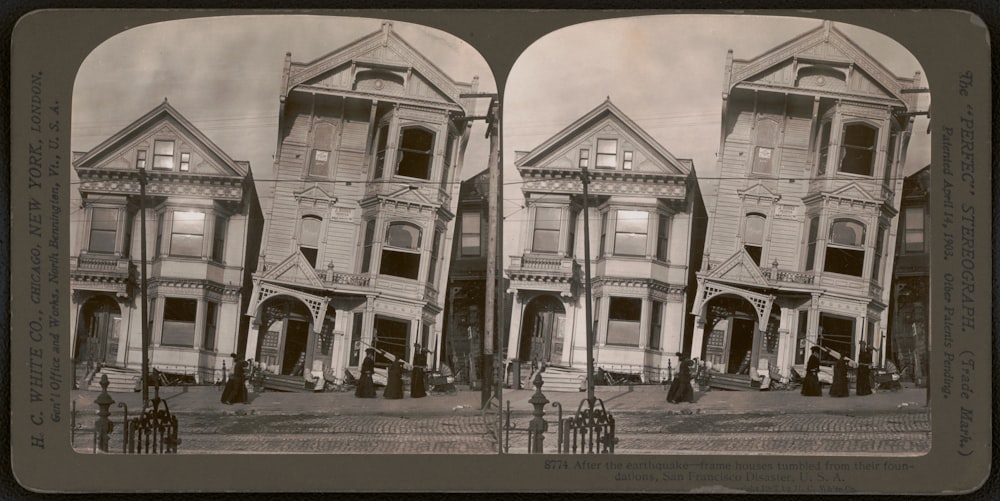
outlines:
M529 47L503 95L503 361L519 407L560 416L501 447L928 452L929 92L905 47L819 19Z

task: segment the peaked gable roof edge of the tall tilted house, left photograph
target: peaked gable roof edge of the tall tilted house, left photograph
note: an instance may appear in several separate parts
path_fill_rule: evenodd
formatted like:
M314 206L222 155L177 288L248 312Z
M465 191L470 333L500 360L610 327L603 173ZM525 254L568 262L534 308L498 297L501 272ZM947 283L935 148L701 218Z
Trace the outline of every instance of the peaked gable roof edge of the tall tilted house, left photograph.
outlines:
M287 96L295 87L304 85L322 75L346 64L361 63L374 67L408 68L423 77L452 103L466 113L472 113L471 99L460 97L462 93L474 92L478 77L472 83L457 82L418 52L392 29L392 22L383 21L382 28L305 63L291 61L291 53L285 54L285 80L282 96Z

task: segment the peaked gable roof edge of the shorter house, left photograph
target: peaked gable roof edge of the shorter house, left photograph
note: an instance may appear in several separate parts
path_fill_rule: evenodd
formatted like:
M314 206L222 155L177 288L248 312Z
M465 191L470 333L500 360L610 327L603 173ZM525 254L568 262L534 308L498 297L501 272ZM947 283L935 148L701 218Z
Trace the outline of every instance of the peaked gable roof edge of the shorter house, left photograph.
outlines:
M222 167L226 175L246 177L250 174L250 164L245 161L236 161L222 151L211 139L198 130L187 118L180 114L166 98L158 106L150 110L145 115L139 117L131 124L125 126L108 139L92 148L90 151L75 158L73 165L80 167L90 167L107 154L118 151L125 144L135 137L155 129L159 125L170 122L176 127L179 133L187 136L198 146L204 149L209 155L214 157L216 164Z

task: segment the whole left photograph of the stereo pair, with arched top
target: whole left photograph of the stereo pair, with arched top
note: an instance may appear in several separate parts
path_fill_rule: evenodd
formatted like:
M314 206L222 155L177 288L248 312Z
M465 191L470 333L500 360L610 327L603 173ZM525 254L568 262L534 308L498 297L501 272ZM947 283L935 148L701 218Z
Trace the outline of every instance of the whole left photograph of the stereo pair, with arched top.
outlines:
M402 22L187 19L95 49L74 450L495 453L475 384L495 104L475 49Z

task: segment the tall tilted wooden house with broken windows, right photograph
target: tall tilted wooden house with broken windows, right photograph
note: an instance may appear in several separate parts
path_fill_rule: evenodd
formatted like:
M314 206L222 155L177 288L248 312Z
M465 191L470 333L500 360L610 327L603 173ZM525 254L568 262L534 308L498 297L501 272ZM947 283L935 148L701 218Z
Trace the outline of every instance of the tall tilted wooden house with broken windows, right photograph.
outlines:
M856 359L865 340L884 358L919 84L830 22L753 59L729 52L692 356L754 378L788 376L813 343Z

